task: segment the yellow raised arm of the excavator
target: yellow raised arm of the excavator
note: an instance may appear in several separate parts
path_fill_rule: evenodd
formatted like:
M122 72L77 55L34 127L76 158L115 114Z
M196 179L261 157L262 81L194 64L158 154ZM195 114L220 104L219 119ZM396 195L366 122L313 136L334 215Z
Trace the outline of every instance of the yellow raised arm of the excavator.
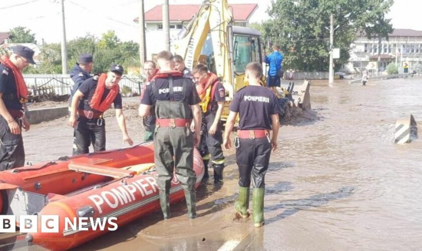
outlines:
M208 34L212 38L215 58L215 73L222 79L226 89L226 100L234 95L234 72L232 62L232 25L233 16L227 0L207 0L199 11L174 41L174 52L182 56L187 68L192 69L198 63L206 62L206 55L201 55Z

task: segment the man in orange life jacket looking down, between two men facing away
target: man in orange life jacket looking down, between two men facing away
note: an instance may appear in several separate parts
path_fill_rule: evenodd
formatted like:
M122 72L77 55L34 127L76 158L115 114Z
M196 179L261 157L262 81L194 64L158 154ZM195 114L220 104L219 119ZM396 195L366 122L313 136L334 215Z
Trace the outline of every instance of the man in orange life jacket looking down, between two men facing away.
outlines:
M204 178L208 178L208 164L212 160L214 168L214 183L223 181L224 155L221 145L223 144L223 126L220 121L223 113L226 91L218 76L208 72L204 64L196 65L192 70L196 81L196 91L201 102L202 111L201 141L199 152L205 166Z

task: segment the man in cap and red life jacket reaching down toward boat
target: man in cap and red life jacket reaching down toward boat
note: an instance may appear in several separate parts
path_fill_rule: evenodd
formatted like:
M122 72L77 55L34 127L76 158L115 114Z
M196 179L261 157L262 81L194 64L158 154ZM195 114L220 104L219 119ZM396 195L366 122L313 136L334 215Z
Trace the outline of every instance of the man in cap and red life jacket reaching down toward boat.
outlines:
M105 150L103 112L109 109L112 103L116 109L119 128L123 133L123 143L133 145L126 130L122 96L119 92L119 81L122 75L123 67L114 64L107 74L102 73L97 79L92 77L85 80L73 95L68 124L75 128L77 154L89 153L90 140L94 152Z

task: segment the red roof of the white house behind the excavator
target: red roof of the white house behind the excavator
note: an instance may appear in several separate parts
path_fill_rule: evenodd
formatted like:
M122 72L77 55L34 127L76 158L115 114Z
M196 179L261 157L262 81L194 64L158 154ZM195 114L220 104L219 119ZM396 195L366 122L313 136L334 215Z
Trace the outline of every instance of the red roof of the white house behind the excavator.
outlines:
M169 5L170 21L188 21L199 10L199 7L200 5ZM257 8L257 4L229 5L235 21L247 21ZM145 22L162 20L161 5L157 5L145 13ZM138 18L134 22L138 22Z

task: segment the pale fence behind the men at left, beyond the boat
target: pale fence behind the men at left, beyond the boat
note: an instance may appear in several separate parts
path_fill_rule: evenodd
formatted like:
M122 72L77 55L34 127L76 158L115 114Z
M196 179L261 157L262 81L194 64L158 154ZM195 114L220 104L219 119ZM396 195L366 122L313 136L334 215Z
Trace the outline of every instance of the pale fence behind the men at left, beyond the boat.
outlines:
M70 87L73 86L73 81L69 75L66 74L23 74L25 82L30 90L39 90L40 88L52 89L56 95L70 94ZM144 83L144 79L139 77L132 77L124 75L120 80L119 85L122 89L127 86L132 89L132 92L139 94Z

